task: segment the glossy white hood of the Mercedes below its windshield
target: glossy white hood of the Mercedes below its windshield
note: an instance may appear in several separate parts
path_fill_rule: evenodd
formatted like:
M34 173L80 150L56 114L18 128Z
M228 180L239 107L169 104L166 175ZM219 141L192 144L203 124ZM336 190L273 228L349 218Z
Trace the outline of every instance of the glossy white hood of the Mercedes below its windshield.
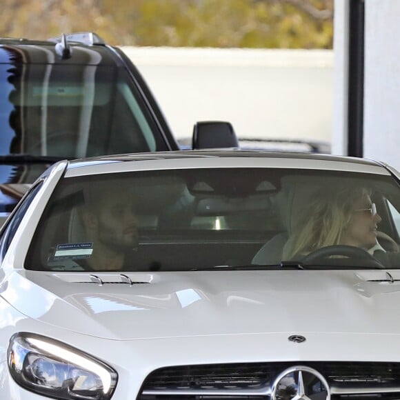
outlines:
M14 272L0 294L33 319L109 339L274 332L397 334L400 271L390 273L102 273L97 274L101 284L82 272L23 271ZM20 288L18 295L12 288Z

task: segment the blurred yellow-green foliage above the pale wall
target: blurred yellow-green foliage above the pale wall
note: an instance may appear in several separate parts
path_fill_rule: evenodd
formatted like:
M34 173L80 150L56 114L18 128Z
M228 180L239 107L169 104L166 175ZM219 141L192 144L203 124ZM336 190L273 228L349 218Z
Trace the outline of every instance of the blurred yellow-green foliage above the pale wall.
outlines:
M332 48L333 0L0 0L0 35L93 31L109 43Z

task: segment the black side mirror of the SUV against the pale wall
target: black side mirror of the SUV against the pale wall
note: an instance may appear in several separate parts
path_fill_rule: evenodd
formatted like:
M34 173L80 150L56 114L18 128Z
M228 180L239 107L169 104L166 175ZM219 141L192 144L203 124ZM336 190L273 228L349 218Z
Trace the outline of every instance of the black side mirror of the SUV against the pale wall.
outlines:
M199 121L194 124L192 149L239 148L232 124L225 121Z

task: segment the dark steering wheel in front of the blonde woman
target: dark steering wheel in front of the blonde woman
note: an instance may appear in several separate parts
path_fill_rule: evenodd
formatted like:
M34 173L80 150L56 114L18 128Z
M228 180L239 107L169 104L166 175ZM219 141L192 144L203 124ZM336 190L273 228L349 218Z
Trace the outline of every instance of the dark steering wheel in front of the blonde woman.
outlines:
M363 250L359 247L354 246L344 246L344 245L337 245L337 246L327 246L323 248L319 248L310 252L310 254L306 255L302 259L302 263L319 263L319 262L326 262L328 261L329 257L332 256L343 256L350 259L360 259L363 266L371 267L371 268L385 268L377 259L372 257L372 255L366 250ZM338 261L337 259L334 259ZM332 259L330 260L330 264L332 264Z

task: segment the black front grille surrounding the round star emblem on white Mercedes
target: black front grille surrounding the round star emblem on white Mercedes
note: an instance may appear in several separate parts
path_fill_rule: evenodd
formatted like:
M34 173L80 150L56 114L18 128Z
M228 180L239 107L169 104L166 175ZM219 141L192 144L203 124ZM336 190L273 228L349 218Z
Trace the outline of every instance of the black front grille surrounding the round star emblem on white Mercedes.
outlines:
M331 399L400 400L400 363L232 363L160 368L148 375L137 400L269 400L277 376L308 366L328 381Z

